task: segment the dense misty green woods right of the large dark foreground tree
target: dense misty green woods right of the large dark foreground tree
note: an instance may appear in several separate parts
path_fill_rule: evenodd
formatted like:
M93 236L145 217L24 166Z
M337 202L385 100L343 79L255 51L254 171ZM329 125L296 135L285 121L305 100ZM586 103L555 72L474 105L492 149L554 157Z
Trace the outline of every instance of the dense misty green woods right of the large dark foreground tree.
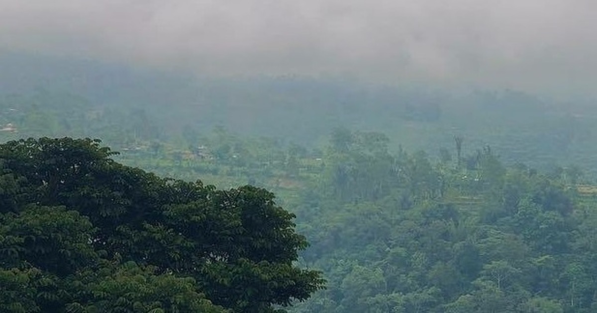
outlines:
M581 210L570 179L506 168L490 147L434 165L365 135L338 131L324 188L297 200L303 262L328 289L294 312L593 311L594 202Z

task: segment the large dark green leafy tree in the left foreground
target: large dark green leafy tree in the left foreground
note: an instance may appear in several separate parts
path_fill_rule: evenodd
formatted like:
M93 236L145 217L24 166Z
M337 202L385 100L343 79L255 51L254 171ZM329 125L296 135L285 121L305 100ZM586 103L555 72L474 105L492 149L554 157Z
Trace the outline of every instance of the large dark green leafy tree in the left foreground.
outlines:
M273 194L121 165L99 141L0 145L0 311L268 312L321 289Z

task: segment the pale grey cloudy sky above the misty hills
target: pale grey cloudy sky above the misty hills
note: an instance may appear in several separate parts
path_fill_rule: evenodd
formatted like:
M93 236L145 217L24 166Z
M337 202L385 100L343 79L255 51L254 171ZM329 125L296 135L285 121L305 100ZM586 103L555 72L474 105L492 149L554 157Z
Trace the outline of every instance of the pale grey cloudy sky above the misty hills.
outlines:
M201 74L590 92L595 0L0 0L4 49Z

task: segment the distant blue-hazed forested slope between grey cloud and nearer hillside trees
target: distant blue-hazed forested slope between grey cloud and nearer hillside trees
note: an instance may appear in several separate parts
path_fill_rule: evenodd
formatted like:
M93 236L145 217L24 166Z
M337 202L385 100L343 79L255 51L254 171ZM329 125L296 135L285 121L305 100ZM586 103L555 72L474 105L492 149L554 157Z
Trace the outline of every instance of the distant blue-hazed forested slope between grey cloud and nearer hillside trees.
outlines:
M97 61L0 57L0 139L100 137L112 147L139 142L195 145L217 126L235 134L322 146L338 127L383 132L399 145L439 156L453 137L474 153L491 145L507 165L578 165L597 174L597 110L590 98L554 100L508 89L454 91L303 76L236 79L125 67ZM35 73L35 75L33 75Z

